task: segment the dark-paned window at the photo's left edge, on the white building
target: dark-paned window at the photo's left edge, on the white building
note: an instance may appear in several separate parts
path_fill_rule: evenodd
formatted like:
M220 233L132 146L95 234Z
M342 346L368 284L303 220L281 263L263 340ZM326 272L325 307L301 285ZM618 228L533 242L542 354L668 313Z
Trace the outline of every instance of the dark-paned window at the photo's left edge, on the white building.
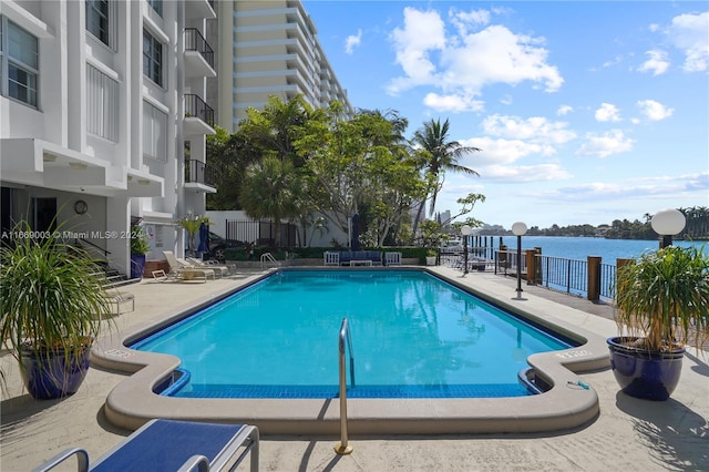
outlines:
M3 95L37 107L39 51L35 37L0 17L0 88Z

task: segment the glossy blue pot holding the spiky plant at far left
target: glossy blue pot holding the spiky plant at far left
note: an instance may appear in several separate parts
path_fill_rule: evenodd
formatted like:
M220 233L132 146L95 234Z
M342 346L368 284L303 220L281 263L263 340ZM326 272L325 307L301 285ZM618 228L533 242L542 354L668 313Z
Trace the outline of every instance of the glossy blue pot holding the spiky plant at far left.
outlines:
M63 349L55 351L23 350L20 373L27 391L38 400L50 400L76 393L86 377L91 348L66 361Z

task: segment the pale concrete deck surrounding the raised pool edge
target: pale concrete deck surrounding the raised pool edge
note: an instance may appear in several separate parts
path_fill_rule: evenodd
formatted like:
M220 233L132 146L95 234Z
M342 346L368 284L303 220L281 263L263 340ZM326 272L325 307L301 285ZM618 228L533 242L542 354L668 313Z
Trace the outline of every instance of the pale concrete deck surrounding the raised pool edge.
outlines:
M490 273L436 267L435 271L485 294L507 298L525 310L545 312L599 337L616 335L613 308L540 287L523 286ZM259 271L207 284L156 284L125 288L135 311L115 318L109 341L237 285ZM508 296L506 295L508 294ZM0 470L23 471L59 451L80 445L95 459L131 431L115 427L104 407L110 392L129 376L92 368L79 392L64 400L32 400L22 391L16 362L0 358L8 378L1 403ZM276 435L261 439L264 471L582 471L709 470L709 355L689 350L670 400L650 402L618 391L608 369L575 374L597 396L598 414L583 425L536 433L378 435L350 434L351 455L339 456L333 435ZM571 389L569 389L571 390ZM585 394L586 391L579 392ZM337 406L337 401L333 401Z

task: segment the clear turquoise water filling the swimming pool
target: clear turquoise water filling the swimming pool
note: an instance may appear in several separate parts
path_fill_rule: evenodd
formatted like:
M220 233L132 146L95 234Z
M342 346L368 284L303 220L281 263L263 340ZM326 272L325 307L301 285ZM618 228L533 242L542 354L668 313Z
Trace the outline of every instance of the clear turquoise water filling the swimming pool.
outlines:
M285 270L132 347L182 359L176 397L335 398L343 318L349 397L526 396L526 358L572 346L423 271Z

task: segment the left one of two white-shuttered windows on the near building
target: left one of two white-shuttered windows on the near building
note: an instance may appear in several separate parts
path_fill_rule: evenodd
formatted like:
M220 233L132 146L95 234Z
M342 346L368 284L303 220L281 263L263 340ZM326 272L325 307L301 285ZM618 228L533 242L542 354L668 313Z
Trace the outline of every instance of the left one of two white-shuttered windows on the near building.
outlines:
M86 64L86 131L119 141L119 83Z

